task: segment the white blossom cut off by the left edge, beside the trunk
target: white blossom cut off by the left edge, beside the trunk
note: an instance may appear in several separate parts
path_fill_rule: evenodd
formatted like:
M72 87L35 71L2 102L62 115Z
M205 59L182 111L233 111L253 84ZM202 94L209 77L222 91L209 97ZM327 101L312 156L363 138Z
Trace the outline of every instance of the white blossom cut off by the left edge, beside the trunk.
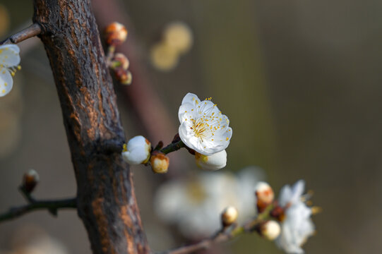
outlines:
M0 46L0 97L8 95L13 87L12 76L20 68L20 49L16 44Z

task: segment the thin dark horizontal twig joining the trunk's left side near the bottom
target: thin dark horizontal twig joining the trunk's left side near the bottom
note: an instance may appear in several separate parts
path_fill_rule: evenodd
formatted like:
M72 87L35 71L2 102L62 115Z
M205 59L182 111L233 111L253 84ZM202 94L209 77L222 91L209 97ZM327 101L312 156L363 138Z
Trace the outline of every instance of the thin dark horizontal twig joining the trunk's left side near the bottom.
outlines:
M28 212L35 210L48 210L50 213L56 215L57 210L64 208L76 208L76 198L68 198L64 200L41 200L34 201L28 205L21 205L19 207L11 207L8 212L0 214L0 222L4 222L9 219L15 219Z

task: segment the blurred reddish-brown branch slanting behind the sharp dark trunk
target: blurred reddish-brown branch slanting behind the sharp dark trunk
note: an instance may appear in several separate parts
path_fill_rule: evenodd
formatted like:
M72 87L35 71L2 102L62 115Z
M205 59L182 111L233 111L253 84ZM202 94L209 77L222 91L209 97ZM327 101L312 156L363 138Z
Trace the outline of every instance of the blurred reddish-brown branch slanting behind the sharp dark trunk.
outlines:
M153 87L150 86L147 71L137 54L139 49L136 47L135 38L133 32L131 32L132 25L126 13L121 11L119 4L114 0L93 0L92 7L101 29L106 28L109 23L114 21L129 28L129 39L117 48L118 52L125 54L129 58L131 62L130 69L133 73L133 84L124 87L124 95L130 101L133 110L136 111L143 128L148 133L149 140L155 142L155 140L171 138L177 130L171 124L171 117L165 105L161 102Z

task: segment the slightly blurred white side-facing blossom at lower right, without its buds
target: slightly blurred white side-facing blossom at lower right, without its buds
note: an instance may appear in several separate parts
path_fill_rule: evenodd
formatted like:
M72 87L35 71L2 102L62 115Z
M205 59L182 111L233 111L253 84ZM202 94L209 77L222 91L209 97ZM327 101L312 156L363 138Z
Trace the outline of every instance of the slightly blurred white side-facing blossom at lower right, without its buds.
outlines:
M302 245L314 234L311 208L303 201L304 181L293 187L284 186L280 191L279 204L285 208L285 219L281 224L281 234L276 244L286 253L304 253Z

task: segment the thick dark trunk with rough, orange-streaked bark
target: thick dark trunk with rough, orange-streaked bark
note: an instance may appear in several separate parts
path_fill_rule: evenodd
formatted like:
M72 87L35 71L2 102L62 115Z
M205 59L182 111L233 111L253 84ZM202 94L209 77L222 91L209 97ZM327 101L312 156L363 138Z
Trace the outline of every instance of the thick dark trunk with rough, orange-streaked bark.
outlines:
M78 215L93 253L148 253L131 174L120 155L124 131L90 1L33 2L76 172Z

